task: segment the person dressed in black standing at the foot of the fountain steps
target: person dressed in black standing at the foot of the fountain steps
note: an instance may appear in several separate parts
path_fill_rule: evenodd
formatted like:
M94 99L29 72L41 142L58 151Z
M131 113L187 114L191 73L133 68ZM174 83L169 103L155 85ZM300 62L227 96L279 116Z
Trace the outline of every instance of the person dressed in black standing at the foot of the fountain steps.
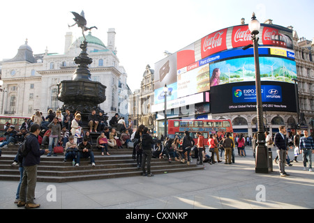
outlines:
M142 176L154 176L151 174L151 145L154 144L154 140L150 134L148 134L148 128L145 127L142 133L142 150L143 150L143 160L142 160ZM147 172L145 170L145 162L147 159Z

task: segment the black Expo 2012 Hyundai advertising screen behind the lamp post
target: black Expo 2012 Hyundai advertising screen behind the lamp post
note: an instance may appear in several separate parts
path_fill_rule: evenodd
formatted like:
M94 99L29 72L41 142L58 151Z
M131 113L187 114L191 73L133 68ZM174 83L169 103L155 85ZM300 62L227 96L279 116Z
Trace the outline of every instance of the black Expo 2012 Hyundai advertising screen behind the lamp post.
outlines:
M294 84L262 82L263 111L297 112ZM255 112L255 82L240 82L211 87L211 113Z

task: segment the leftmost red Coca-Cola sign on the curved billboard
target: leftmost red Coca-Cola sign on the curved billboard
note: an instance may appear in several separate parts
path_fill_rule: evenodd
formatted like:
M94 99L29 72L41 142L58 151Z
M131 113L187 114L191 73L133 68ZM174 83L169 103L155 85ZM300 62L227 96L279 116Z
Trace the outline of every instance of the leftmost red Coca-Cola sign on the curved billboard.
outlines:
M227 29L221 29L202 38L202 58L227 49Z

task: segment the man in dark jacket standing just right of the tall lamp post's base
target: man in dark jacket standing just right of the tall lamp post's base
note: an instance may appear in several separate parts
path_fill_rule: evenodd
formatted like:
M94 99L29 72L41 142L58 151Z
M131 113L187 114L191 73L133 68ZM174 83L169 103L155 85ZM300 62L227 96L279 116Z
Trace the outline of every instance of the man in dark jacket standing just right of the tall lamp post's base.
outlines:
M289 176L285 172L285 160L287 157L287 137L285 134L287 131L285 130L285 126L281 125L279 127L279 132L275 134L274 144L277 146L277 155L278 155L278 166L281 176Z

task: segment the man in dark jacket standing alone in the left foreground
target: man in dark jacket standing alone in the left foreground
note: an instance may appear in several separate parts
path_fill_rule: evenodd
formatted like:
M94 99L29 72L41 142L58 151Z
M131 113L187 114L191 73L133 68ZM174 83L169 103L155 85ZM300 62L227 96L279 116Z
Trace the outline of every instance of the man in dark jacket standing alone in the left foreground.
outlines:
M38 134L40 125L31 125L31 132L25 143L25 151L22 153L24 167L22 183L20 187L20 201L17 206L25 208L38 208L40 204L33 203L35 197L35 187L37 182L37 166L40 162L40 155L47 153L49 149L40 150L38 143Z

